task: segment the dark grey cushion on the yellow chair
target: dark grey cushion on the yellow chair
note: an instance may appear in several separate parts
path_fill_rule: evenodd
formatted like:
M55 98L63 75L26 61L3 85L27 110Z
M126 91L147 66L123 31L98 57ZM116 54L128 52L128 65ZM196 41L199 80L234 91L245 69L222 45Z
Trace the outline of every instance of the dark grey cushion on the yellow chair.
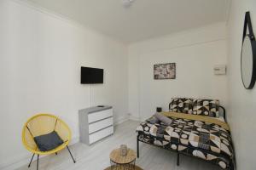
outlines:
M41 151L54 150L56 147L63 144L63 140L58 133L53 131L52 133L44 134L34 138L38 149Z

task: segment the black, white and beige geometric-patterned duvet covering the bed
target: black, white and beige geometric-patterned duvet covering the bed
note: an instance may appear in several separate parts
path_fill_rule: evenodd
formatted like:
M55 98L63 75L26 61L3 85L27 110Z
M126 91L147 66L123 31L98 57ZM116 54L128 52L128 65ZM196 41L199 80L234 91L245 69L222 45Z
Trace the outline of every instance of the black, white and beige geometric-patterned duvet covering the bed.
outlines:
M138 140L167 150L176 150L189 156L233 169L234 151L229 130L210 123L169 117L172 124L150 123L154 116L137 127Z

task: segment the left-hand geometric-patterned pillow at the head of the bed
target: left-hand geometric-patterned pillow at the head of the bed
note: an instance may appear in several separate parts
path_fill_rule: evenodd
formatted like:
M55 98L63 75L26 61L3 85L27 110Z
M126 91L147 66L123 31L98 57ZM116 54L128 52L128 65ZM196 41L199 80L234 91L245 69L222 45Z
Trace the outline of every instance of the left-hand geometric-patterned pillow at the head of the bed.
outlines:
M192 114L192 103L192 99L189 98L173 98L170 111Z

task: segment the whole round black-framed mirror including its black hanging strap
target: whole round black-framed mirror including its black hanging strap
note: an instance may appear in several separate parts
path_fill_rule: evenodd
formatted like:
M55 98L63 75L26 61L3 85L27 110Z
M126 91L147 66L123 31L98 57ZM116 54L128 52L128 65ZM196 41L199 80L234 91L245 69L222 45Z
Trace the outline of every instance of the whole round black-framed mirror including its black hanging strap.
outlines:
M249 33L247 34L247 26ZM249 12L246 13L241 47L241 79L243 86L252 89L256 80L256 42Z

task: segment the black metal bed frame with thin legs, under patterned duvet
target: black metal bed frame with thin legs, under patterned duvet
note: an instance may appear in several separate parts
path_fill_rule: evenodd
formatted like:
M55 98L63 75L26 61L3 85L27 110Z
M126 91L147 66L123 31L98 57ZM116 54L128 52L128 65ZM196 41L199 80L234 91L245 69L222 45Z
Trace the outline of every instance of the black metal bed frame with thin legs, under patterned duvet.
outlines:
M221 105L219 105L219 107L223 110L224 121L226 122L225 109L224 109L224 107L221 106ZM169 109L170 109L170 108L171 108L171 103L169 104ZM138 133L138 134L137 134L137 158L139 158L139 156L140 156L140 155L139 155L139 142L142 142L142 143L144 143L144 144L150 144L150 143L148 143L148 142L145 142L145 141L143 141L143 140L140 140L140 139L139 139L139 136L140 136L140 134ZM155 137L155 136L154 136L154 138L160 139L160 138ZM173 143L173 144L174 144L174 143ZM163 147L158 146L158 145L155 145L155 144L150 144L150 145L154 145L154 146L156 146L156 147L158 147L158 148L161 148L161 149L164 149L164 150L169 150L169 149L163 148ZM173 152L176 152L176 153L177 153L177 166L179 166L179 155L180 155L180 154L182 154L183 156L190 156L189 154L185 154L185 153L183 153L183 152L179 152L179 151L178 151L178 145L182 145L182 144L177 144L177 150L170 150L170 151L173 151ZM188 147L188 146L186 145L186 147ZM193 148L193 149L195 149L195 148ZM196 148L196 150L204 151L204 150L201 149L201 148ZM233 159L232 159L231 162L230 162L230 170L235 170L235 169L236 169L235 150L233 150L233 151L234 151L234 156L233 156ZM212 154L212 155L215 154L215 153L212 152L211 150L207 150L207 153ZM193 156L193 157L195 157L195 156ZM201 158L199 158L199 157L195 157L195 158L201 159ZM207 160L204 160L204 159L201 159L201 160L207 161ZM211 162L212 164L215 164L215 163L213 163L212 161L207 161L207 162ZM215 165L216 165L216 164L215 164Z

